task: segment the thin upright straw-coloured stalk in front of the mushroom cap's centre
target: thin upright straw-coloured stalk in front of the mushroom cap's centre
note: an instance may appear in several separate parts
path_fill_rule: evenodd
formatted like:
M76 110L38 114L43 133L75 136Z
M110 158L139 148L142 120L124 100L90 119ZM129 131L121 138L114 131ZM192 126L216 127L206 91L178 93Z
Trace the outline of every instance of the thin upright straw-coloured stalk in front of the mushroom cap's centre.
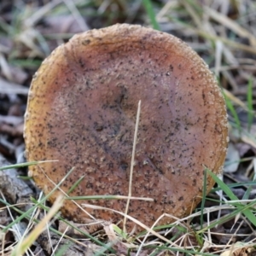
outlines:
M127 199L127 203L126 203L126 207L125 207L125 218L124 218L124 226L123 226L124 232L126 232L126 228L125 228L126 215L128 214L128 209L129 209L130 199L131 199L132 174L133 174L135 150L136 150L136 143L137 143L137 131L138 131L138 124L139 124L139 119L140 119L140 113L141 113L141 100L138 102L138 105L137 105L137 117L136 117L135 131L134 131L134 137L133 137L132 154L131 154L131 169L130 169L130 180L129 180L129 192L128 192L128 199Z

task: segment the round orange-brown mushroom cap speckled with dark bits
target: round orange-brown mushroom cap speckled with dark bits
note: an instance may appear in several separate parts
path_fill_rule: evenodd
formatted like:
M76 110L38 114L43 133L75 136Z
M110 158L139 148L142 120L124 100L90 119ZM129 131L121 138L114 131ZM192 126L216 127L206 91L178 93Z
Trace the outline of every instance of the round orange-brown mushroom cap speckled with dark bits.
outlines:
M201 57L180 39L143 26L115 25L75 35L43 62L28 96L26 157L58 160L29 170L48 194L128 195L137 104L138 127L129 215L148 226L163 213L188 215L201 201L205 166L220 173L228 143L218 84ZM46 177L48 176L48 177ZM54 183L50 182L53 181ZM207 192L214 181L207 177ZM50 196L55 201L60 191ZM125 200L77 201L97 219L122 219ZM65 201L62 213L86 223L88 213ZM172 218L161 218L168 224ZM131 230L133 223L127 223ZM141 230L140 228L138 230Z

